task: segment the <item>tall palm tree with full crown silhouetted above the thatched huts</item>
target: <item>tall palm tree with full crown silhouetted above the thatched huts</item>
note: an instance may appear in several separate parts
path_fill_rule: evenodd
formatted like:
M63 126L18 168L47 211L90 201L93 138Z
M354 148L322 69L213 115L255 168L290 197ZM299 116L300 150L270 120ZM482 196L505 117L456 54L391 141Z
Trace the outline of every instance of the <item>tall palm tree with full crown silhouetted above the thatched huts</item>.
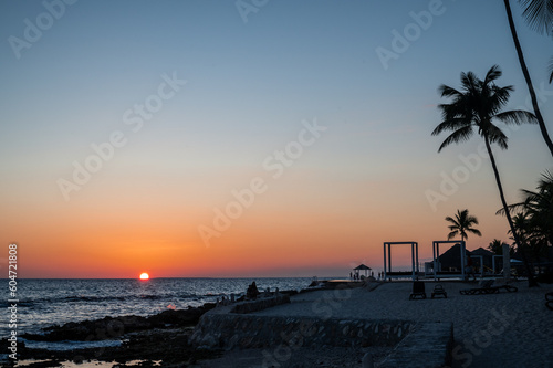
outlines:
M444 140L438 153L452 143L461 143L470 139L474 134L474 128L478 134L484 139L486 149L490 157L495 182L498 185L499 196L509 227L513 231L515 243L523 255L523 262L529 274L529 286L536 286L535 280L532 276L528 260L524 256L523 249L514 231L513 220L509 213L503 186L499 176L495 158L491 150L491 144L497 144L500 148L507 149L508 138L501 129L493 124L494 120L501 120L505 124L522 124L524 122L534 123L535 116L525 111L508 111L501 112L502 107L509 101L510 93L514 91L513 86L500 87L494 81L501 76L501 70L498 65L493 65L483 81L479 80L474 73L461 73L462 90L457 91L447 85L441 85L439 92L441 97L450 97L450 104L440 104L442 122L434 129L432 136L439 135L442 132L451 130L452 133Z

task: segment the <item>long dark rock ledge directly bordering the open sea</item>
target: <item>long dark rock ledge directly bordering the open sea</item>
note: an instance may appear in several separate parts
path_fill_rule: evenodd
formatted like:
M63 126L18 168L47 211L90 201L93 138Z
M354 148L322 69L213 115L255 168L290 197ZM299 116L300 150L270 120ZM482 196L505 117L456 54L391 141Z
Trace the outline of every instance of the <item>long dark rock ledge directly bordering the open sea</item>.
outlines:
M215 303L206 303L196 308L165 311L150 317L122 316L105 317L96 320L70 322L63 326L44 329L45 335L23 335L27 339L41 341L80 340L94 341L117 338L124 334L167 326L194 326L200 316L215 307Z

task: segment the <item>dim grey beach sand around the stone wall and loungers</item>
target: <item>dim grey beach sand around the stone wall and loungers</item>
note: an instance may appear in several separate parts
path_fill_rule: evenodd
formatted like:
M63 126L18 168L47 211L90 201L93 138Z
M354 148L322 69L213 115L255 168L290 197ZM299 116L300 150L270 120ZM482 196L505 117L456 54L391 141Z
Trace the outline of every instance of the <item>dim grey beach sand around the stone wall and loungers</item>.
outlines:
M441 282L448 298L430 298L435 282L426 283L427 299L409 301L410 282L368 287L315 291L292 297L292 303L254 313L265 316L319 316L343 319L404 319L453 323L453 367L553 367L553 312L544 294L553 285L529 288L513 283L517 293L460 295L476 283ZM374 284L373 284L374 285ZM269 349L270 350L270 349ZM341 350L345 353L340 353ZM294 349L281 367L361 367L366 350ZM377 357L384 351L372 351ZM263 351L229 351L198 367L261 367ZM341 360L342 359L342 360ZM234 361L239 365L233 365Z

